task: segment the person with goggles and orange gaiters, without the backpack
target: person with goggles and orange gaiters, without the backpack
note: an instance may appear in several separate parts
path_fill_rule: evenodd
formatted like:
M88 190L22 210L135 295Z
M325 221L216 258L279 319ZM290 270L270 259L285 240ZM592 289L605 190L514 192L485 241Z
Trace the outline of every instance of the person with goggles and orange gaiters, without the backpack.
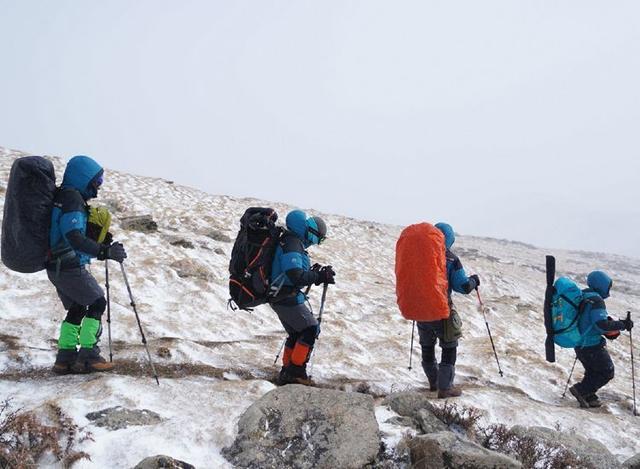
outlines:
M334 284L335 272L331 266L315 264L312 267L306 251L325 240L327 227L320 217L307 217L303 211L293 210L287 215L286 226L271 268L272 288L279 290L269 301L288 334L278 384L310 385L307 362L320 328L305 304L307 297L301 289L311 285Z

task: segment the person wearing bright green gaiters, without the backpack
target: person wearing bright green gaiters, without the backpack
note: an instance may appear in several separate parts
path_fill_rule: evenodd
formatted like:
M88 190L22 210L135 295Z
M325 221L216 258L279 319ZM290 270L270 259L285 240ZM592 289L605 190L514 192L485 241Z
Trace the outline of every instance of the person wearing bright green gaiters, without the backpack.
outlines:
M97 197L103 176L104 170L93 159L74 156L54 198L46 268L67 311L53 366L58 374L113 369L113 363L100 356L97 346L107 302L102 288L86 268L92 258L122 262L127 257L122 244L111 243L110 234L98 235L102 243L87 235L87 201Z

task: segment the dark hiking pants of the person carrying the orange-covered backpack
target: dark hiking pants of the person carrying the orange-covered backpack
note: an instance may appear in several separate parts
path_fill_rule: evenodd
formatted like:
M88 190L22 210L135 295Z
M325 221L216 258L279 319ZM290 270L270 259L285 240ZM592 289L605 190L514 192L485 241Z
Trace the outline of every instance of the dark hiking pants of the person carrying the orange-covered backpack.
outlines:
M458 341L446 342L444 340L444 326L442 320L420 322L418 321L418 335L422 349L422 369L429 384L437 384L438 389L446 390L453 386L455 377L455 364L457 358ZM442 354L440 364L436 361L436 342L440 342Z

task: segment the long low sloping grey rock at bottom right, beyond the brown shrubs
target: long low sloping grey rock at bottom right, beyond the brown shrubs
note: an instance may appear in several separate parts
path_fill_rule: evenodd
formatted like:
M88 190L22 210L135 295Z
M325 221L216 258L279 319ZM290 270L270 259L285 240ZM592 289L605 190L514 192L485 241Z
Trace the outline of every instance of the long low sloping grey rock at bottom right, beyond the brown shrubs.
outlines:
M561 433L546 427L511 428L515 435L533 437L548 446L560 445L575 453L581 460L598 469L616 469L620 467L615 456L598 440L585 438L575 432Z

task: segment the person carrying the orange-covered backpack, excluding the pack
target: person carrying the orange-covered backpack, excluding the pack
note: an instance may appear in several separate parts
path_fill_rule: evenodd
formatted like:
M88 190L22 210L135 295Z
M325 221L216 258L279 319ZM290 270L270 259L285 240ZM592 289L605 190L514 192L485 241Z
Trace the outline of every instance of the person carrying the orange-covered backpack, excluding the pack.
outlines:
M462 394L460 388L453 385L455 377L455 364L457 356L460 319L451 301L451 292L469 294L480 285L477 275L467 277L458 256L451 252L451 246L455 242L453 228L447 223L435 225L445 238L447 259L447 280L449 283L449 318L437 321L418 321L418 333L420 334L420 346L422 348L422 368L429 380L429 389L438 390L438 398L456 397ZM442 356L440 364L436 361L435 345L440 341Z

